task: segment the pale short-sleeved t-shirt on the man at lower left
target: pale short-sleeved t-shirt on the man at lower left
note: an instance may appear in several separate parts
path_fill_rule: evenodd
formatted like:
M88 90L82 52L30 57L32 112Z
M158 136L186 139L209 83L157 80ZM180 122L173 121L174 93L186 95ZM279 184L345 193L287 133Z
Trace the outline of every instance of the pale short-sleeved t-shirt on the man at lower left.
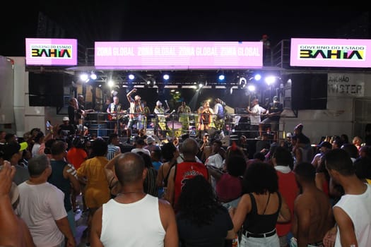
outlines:
M67 217L64 193L51 183L18 185L19 204L16 214L27 224L37 247L57 246L64 241L56 220Z

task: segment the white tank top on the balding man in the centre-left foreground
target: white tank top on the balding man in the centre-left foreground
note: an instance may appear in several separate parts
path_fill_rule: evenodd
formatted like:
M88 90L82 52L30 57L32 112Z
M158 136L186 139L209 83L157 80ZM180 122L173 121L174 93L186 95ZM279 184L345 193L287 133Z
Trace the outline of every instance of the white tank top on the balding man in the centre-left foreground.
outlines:
M163 247L165 229L160 219L158 198L146 195L135 203L103 204L100 241L106 247Z

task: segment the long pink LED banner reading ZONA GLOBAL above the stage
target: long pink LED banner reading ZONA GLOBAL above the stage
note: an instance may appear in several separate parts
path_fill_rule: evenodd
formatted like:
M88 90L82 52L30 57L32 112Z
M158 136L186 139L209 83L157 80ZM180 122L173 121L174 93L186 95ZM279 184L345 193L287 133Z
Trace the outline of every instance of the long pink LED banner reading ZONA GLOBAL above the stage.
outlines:
M123 69L261 68L263 42L95 42L94 60Z

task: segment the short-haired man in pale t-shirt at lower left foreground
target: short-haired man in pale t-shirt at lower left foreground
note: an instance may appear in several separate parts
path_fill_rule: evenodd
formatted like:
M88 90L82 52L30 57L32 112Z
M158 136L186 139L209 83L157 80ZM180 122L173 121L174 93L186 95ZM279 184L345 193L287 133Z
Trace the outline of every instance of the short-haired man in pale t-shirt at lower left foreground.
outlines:
M28 161L30 179L18 186L16 213L27 224L36 246L76 246L64 208L64 193L47 182L52 167L46 155Z

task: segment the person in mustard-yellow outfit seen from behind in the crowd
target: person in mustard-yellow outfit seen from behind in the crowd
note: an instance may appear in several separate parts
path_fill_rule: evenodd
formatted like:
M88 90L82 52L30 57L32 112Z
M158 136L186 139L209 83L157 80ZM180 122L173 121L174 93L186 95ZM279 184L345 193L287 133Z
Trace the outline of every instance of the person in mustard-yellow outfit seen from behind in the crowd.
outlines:
M110 188L105 176L107 164L107 143L102 138L93 141L92 157L86 159L77 169L78 180L84 184L84 200L88 207L88 227L84 235L90 238L91 219L96 210L110 200Z

